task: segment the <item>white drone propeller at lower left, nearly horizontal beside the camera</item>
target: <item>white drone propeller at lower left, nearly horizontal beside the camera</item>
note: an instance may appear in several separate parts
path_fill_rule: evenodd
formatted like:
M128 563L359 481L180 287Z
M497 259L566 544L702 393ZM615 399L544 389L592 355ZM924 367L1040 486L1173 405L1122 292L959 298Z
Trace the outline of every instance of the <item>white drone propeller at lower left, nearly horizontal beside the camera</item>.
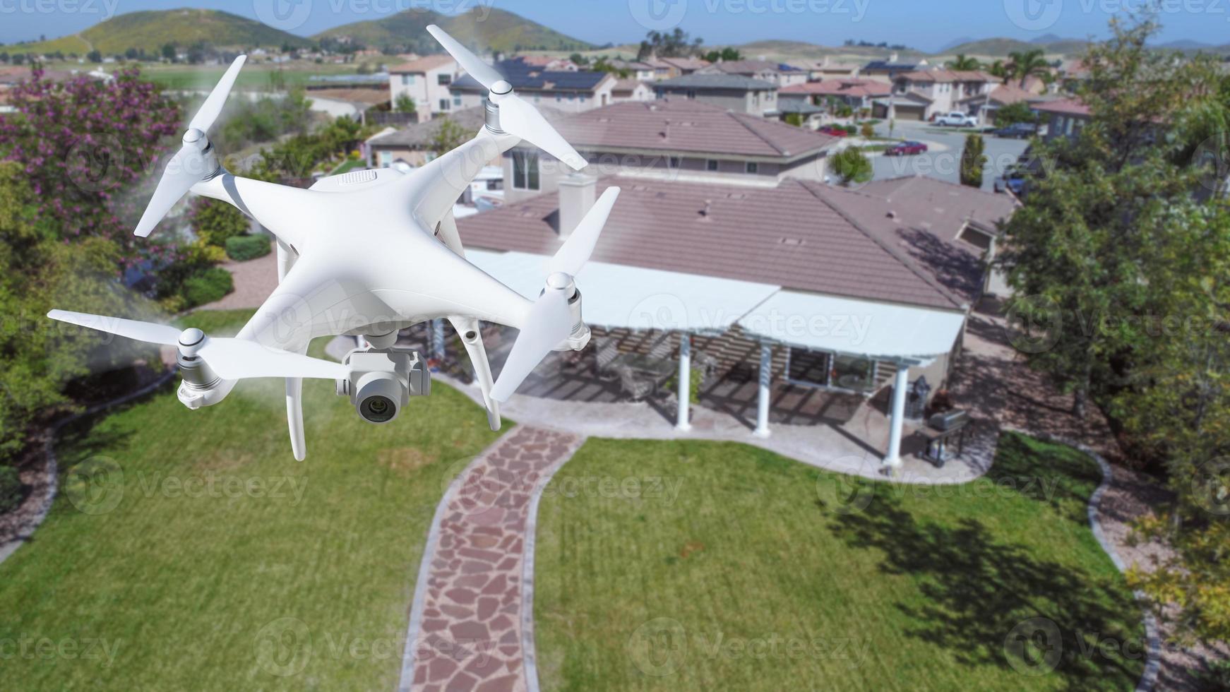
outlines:
M47 313L52 320L68 322L79 327L98 329L139 342L173 345L184 358L200 356L219 377L224 380L242 380L246 377L320 377L339 380L349 376L349 370L341 363L330 363L319 358L309 358L298 353L264 347L247 339L228 339L207 337L197 328L176 329L169 324L138 322L119 317L102 317L84 312L53 310Z

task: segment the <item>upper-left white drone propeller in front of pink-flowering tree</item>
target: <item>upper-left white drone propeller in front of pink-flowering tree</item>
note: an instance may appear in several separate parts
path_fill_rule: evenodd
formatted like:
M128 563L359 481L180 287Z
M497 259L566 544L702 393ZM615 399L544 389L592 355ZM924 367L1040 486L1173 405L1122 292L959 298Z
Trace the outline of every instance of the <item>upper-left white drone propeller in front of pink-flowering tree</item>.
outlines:
M183 146L167 162L162 178L159 179L157 188L154 191L154 197L150 198L145 213L141 214L141 220L137 224L134 232L138 236L149 236L154 226L175 206L175 203L188 194L192 186L218 171L218 157L214 155L205 133L213 127L218 114L223 112L223 106L226 104L226 97L230 95L231 87L235 86L235 79L239 77L245 60L247 60L247 55L235 58L231 66L226 69L226 74L218 81L218 86L209 92L205 102L200 104L200 109L192 117L188 132L183 133Z

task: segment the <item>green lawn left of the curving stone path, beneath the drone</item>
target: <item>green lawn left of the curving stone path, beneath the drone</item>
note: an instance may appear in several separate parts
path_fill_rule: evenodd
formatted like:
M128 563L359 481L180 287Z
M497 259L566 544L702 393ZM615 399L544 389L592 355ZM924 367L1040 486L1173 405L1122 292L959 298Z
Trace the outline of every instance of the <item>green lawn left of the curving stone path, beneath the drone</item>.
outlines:
M332 390L305 383L301 463L274 380L196 412L167 387L65 430L62 493L0 565L0 690L395 687L435 505L497 434L449 387L383 427ZM112 473L69 472L91 467Z

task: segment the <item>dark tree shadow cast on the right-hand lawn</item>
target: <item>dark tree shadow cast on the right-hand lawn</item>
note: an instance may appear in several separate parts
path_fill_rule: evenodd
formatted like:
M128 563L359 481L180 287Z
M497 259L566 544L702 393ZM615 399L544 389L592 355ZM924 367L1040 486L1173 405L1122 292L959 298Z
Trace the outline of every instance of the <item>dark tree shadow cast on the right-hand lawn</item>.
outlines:
M1097 486L1097 467L1076 450L1073 456L1048 454L1050 468L1031 467L1030 455L1037 458L1037 452L1028 447L1036 445L1005 435L985 481L1015 488L1050 482L1018 494L1085 522L1082 508ZM1124 632L1117 624L1138 607L1117 573L1112 580L1038 558L1037 551L1004 541L980 520L920 520L884 483L872 493L863 511L830 515L829 530L851 548L881 551L883 573L918 579L926 605L897 606L916 623L910 637L945 647L970 666L990 664L1023 675L1053 669L1069 690L1135 687L1145 642L1143 628ZM1027 644L1021 658L1009 653L1014 640ZM1113 644L1108 650L1101 647L1106 642Z

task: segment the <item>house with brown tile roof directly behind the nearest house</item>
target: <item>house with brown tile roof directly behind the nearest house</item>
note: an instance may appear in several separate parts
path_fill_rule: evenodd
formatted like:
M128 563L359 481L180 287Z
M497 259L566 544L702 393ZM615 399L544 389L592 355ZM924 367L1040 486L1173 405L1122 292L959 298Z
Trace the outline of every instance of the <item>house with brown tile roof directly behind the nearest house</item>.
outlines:
M835 138L688 100L615 103L565 117L555 128L594 175L775 186L824 178ZM571 172L522 144L504 154L506 195L517 202L555 192Z

